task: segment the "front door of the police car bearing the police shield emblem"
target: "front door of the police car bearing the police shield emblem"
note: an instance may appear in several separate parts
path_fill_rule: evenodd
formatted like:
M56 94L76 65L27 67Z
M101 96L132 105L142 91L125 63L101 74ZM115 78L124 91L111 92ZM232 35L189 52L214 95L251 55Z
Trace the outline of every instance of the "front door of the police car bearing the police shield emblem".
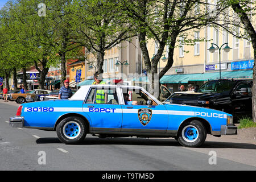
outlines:
M128 103L122 105L123 121L121 131L131 133L166 133L168 127L168 112L164 105L158 105L142 89L122 89L122 94L128 93ZM148 105L150 100L152 105ZM123 100L124 101L124 100ZM138 104L138 105L134 105Z

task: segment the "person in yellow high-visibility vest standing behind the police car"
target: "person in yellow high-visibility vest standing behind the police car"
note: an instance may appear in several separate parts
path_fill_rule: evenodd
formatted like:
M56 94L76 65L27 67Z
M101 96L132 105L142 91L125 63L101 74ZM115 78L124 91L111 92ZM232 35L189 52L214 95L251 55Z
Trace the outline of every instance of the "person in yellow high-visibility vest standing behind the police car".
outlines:
M93 85L104 84L106 84L106 82L102 81L102 75L94 75ZM108 102L108 93L106 93L105 90L97 89L95 102L96 104L106 104Z

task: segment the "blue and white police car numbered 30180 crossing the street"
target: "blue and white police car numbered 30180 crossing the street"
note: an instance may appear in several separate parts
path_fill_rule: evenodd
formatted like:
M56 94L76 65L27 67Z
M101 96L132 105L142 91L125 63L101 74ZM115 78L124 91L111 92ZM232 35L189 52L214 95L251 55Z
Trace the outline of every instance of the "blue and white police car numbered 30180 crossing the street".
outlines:
M139 86L85 85L69 100L22 104L10 126L56 131L63 143L86 134L105 137L172 137L201 146L207 134L237 134L233 117L204 107L162 104Z

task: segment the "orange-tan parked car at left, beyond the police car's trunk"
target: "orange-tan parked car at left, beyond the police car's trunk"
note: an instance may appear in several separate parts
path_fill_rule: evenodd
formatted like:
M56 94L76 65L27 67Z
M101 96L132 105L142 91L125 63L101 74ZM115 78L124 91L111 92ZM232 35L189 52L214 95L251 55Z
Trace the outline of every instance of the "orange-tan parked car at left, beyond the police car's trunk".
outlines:
M43 90L43 89L35 89L35 90L28 90L25 93L11 93L10 100L16 101L18 104L22 104L24 102L34 102L36 101L37 94L44 94L49 93L50 90Z

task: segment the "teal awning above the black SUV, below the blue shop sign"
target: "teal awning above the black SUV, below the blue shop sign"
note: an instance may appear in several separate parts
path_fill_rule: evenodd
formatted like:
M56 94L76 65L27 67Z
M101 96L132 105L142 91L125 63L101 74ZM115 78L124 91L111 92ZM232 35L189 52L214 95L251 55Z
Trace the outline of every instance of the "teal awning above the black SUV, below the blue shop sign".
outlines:
M208 80L218 80L220 78L220 72L208 72L202 73L198 76L192 77L189 81L208 81ZM238 79L238 78L253 78L253 70L243 70L243 71L229 71L221 72L221 79Z

